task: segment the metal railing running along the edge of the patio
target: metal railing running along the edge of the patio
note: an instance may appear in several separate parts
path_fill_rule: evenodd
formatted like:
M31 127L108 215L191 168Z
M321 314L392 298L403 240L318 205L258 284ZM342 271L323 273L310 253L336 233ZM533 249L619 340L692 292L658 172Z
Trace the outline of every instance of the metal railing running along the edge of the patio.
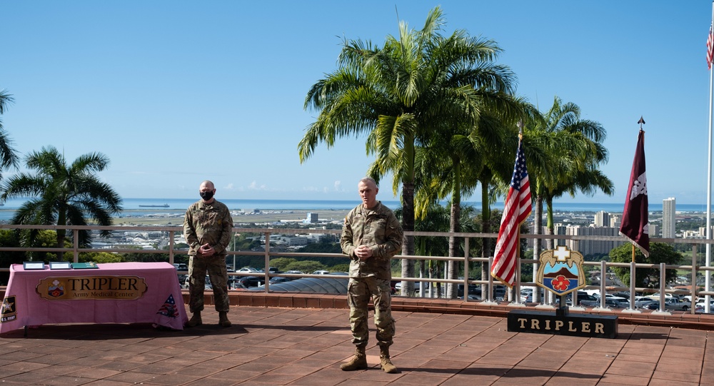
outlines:
M23 230L23 229L36 229L36 230L60 230L60 229L65 229L69 230L73 233L73 238L74 240L74 245L72 245L71 248L9 248L9 247L3 247L0 248L0 253L4 251L19 251L19 252L44 252L44 253L56 253L56 252L62 252L62 253L72 253L74 255L74 262L77 263L79 262L79 253L87 253L87 252L108 252L108 253L149 253L149 254L168 254L169 255L169 263L174 263L174 258L176 255L186 255L187 250L177 250L175 248L175 238L176 235L181 235L183 232L183 227L181 226L98 226L98 225L88 225L88 226L59 226L59 225L9 225L9 224L0 224L0 229L16 229L16 230ZM98 232L100 230L110 230L112 232L115 231L121 231L121 232L126 232L126 231L140 231L140 232L166 232L168 234L168 249L136 249L136 248L79 248L79 245L77 243L78 238L78 232L79 230L91 230L94 232ZM260 233L263 235L265 240L268 240L268 242L265 244L265 249L260 250L260 251L245 251L245 250L238 250L238 251L228 251L228 258L232 255L253 255L253 256L263 256L264 260L264 267L266 267L265 272L261 273L229 273L231 276L263 276L264 283L265 283L265 292L268 293L270 291L270 283L269 280L270 278L276 277L276 276L281 276L281 277L286 277L286 278L321 278L324 277L323 275L311 275L311 274L286 274L286 273L271 273L268 271L268 267L270 267L270 261L271 258L277 258L277 257L286 257L286 258L307 258L307 257L332 257L332 258L344 258L345 256L340 254L340 253L298 253L298 252L285 252L285 251L273 251L271 250L271 245L269 240L271 240L271 235L273 234L299 234L299 233L323 233L323 234L333 234L333 235L339 235L341 233L341 230L324 230L324 229L300 229L300 228L233 228L234 233ZM493 278L491 278L491 275L488 275L488 280L473 280L469 278L468 271L469 271L469 264L468 263L488 263L489 271L491 267L491 263L493 258L474 258L469 256L469 242L470 239L472 238L493 238L494 240L498 238L497 233L443 233L443 232L405 232L407 235L414 235L414 236L428 236L428 237L456 237L463 239L464 242L464 255L459 256L459 257L454 257L454 258L449 258L446 256L423 256L423 255L410 255L410 256L404 256L404 255L397 255L395 258L396 259L410 259L410 260L440 260L440 261L448 261L448 260L453 260L456 261L457 263L461 263L463 270L464 270L464 275L463 275L463 280L454 280L454 279L447 279L447 278L402 278L402 277L393 277L393 280L395 281L401 281L403 283L406 282L418 282L422 283L420 285L420 288L424 288L423 283L442 283L446 285L463 285L463 299L468 301L468 286L469 285L481 285L482 287L485 287L487 289L487 295L486 298L481 300L481 301L486 301L489 303L493 303L495 298L494 298L494 287L500 283L494 283ZM621 237L616 237L616 236L587 236L587 235L521 235L521 238L526 238L526 239L534 239L534 240L608 240L608 241L625 241L625 238ZM697 273L698 272L703 272L705 275L710 275L710 272L714 270L714 267L708 267L708 266L703 266L698 264L698 248L700 245L706 245L706 244L711 244L714 243L714 240L704 240L704 239L673 239L673 238L652 238L650 239L650 243L670 243L670 244L685 244L685 245L692 245L692 258L691 258L691 264L690 265L665 265L665 264L642 264L642 263L609 263L605 261L599 261L599 262L588 262L585 261L583 262L583 265L595 265L599 266L600 268L600 274L603 275L603 280L600 280L600 285L595 286L595 285L590 285L586 287L585 289L596 289L599 290L601 294L607 293L608 291L626 291L629 292L630 294L635 294L635 293L659 293L660 294L660 309L657 310L659 313L666 313L667 311L665 310L665 296L666 294L674 294L674 295L690 295L691 300L690 300L690 307L688 307L688 310L690 310L691 313L695 313L695 301L699 296L705 296L706 298L706 304L709 304L709 299L711 295L714 295L714 292L710 290L710 288L705 288L705 290L700 291L698 290L698 285L696 283L696 278L697 278ZM227 258L227 259L228 259ZM526 264L538 264L538 260L533 260L533 259L521 259L521 264L526 263ZM659 288L638 288L635 287L634 285L634 280L631 280L630 285L628 286L620 286L620 287L613 287L613 286L605 286L605 280L604 280L604 275L607 272L608 268L611 267L620 267L620 268L629 268L630 269L630 277L634 278L635 275L633 274L635 270L638 268L655 268L660 270L660 287ZM690 280L690 285L688 289L671 289L671 288L665 288L665 270L688 270L690 271L691 274L691 280ZM9 267L0 267L0 272L7 272L9 271ZM709 281L707 280L707 283ZM511 292L512 295L512 305L516 306L524 306L521 303L520 299L520 288L521 287L526 287L526 286L532 286L536 287L536 283L529 282L529 283L516 283L516 285L513 288L513 292ZM547 293L547 291L546 291ZM424 291L421 291L421 296L424 296ZM573 293L573 300L572 300L573 305L577 305L577 291ZM550 302L548 300L544 300L543 303L541 303L539 306L543 307L553 307L553 301L551 299ZM600 310L609 310L609 308L605 307L605 296L600 297ZM628 312L638 312L635 310L634 306L634 295L630 296L630 308L627 310ZM705 312L709 312L710 310L708 308L705 309Z

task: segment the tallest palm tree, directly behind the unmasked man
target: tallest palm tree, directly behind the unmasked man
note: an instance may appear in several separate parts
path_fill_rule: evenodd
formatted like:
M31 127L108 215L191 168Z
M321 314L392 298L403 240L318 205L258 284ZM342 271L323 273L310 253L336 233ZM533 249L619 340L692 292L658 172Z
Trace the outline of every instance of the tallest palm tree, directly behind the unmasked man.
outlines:
M436 7L423 29L402 22L398 39L388 36L381 49L345 41L338 69L314 84L305 101L320 114L298 144L301 162L318 142L331 147L338 137L366 135L366 151L376 155L368 174L378 180L391 172L395 193L401 183L407 232L414 230L416 149L444 123L473 126L483 94L508 93L515 78L508 67L493 64L501 51L493 41L461 30L441 36L443 24ZM414 254L413 236L405 235L402 254ZM413 277L413 260L402 262L402 275ZM411 283L404 287L403 293L413 289Z

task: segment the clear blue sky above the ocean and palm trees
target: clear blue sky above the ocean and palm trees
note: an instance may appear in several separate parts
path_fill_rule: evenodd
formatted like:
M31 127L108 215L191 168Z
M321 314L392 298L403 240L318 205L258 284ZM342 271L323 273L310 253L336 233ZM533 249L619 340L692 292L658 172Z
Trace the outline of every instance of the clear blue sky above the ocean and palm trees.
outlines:
M125 198L198 198L208 178L219 199L353 200L364 138L301 164L305 95L343 36L381 46L437 5L447 32L501 46L519 96L605 127L615 195L575 200L624 203L643 116L650 203L706 202L705 0L6 1L0 89L15 103L1 118L23 155L104 153L100 176ZM378 198L395 199L389 181Z

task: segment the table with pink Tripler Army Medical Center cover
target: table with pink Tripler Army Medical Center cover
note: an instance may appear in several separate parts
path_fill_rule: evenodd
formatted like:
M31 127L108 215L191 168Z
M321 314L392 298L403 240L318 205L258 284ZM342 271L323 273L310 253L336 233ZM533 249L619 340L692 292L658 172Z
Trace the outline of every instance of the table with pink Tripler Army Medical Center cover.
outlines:
M151 323L183 330L188 321L169 263L98 263L96 269L10 267L0 333L54 323Z

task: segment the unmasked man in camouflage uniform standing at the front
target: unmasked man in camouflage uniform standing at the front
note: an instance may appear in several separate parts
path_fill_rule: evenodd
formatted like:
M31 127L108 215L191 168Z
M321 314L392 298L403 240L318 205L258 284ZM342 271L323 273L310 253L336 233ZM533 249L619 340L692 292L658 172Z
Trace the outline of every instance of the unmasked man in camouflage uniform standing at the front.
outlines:
M390 260L401 250L403 231L394 213L376 199L379 189L372 178L362 178L357 187L362 204L347 214L340 239L342 252L351 258L347 303L356 352L340 368L345 371L367 368L367 303L371 299L381 368L385 372L397 372L389 359L395 328L391 313Z

